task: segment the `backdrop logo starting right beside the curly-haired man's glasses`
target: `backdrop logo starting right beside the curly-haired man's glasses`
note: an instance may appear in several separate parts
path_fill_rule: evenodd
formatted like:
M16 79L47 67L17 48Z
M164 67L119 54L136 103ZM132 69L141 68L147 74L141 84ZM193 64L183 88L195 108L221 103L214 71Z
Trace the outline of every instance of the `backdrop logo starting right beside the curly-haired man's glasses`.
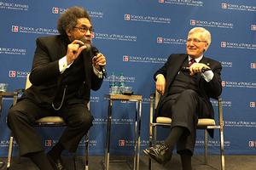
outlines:
M92 38L102 39L102 40L113 40L113 41L128 41L136 42L136 36L129 36L124 34L108 34L108 33L98 33L94 32Z

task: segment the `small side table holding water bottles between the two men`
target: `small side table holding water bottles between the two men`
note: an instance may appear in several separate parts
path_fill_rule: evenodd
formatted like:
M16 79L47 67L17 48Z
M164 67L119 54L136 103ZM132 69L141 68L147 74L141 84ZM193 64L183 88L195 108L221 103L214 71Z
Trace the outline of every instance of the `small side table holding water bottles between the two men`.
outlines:
M136 102L135 126L134 126L134 161L133 170L139 169L139 154L140 154L140 135L141 135L141 116L142 116L142 95L123 95L123 94L106 94L108 99L108 124L107 124L107 141L105 150L104 169L109 169L109 145L111 134L111 120L112 120L112 105L114 100L125 100Z

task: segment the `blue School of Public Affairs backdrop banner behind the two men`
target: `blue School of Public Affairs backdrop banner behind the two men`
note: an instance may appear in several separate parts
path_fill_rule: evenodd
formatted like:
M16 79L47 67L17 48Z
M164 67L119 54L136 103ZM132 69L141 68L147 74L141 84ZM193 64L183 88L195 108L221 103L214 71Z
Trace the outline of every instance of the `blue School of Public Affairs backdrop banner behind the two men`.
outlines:
M185 53L188 31L195 26L212 33L206 56L223 65L225 154L256 154L256 2L251 0L0 0L0 82L8 91L24 88L31 71L37 37L58 34L56 22L71 6L86 8L94 27L93 43L108 59L108 76L125 76L134 94L143 95L141 149L148 146L149 95L153 75L172 53ZM108 78L90 97L95 117L90 129L90 156L102 156L106 143ZM10 131L6 117L12 99L3 99L0 122L0 156L7 156ZM217 111L217 101L212 100ZM133 153L136 105L113 103L111 153ZM20 129L22 130L22 129ZM61 127L38 128L49 150L59 139ZM169 129L159 129L159 140ZM31 141L32 142L32 141ZM195 154L203 151L198 131ZM218 132L210 139L218 154ZM78 153L84 153L84 139ZM18 144L15 142L15 155Z

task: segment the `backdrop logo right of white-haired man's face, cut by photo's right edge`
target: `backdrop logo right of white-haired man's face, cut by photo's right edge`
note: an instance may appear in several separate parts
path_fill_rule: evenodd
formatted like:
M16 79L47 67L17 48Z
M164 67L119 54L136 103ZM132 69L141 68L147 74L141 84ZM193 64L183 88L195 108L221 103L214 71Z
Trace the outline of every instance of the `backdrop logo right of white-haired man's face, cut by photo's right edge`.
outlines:
M256 43L220 42L221 48L256 49Z

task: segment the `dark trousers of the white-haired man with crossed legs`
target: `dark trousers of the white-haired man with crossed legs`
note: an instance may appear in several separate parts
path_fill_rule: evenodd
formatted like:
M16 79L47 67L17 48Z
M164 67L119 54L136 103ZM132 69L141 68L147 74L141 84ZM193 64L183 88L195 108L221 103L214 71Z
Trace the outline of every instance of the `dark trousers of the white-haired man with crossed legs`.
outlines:
M172 127L186 127L187 129L186 133L183 133L183 136L177 142L177 153L182 150L190 150L193 154L198 117L203 117L198 113L205 111L206 108L203 107L207 107L204 100L191 89L163 99L159 116L171 117Z

